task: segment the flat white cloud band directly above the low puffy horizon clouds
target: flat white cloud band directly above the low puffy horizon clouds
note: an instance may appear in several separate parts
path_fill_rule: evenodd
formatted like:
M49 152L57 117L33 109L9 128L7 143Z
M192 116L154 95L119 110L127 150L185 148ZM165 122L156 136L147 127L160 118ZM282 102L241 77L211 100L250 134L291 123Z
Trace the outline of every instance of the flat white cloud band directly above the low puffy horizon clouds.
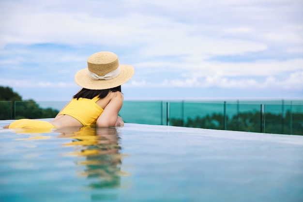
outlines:
M188 60L186 60L188 59ZM283 76L291 72L303 70L303 59L292 59L286 61L258 60L255 62L215 62L199 60L197 55L190 58L184 57L184 61L165 62L141 62L134 64L140 69L154 69L156 71L169 72L169 70L180 69L183 77L207 77L221 72L224 77L266 77L269 75ZM159 74L162 77L168 75Z

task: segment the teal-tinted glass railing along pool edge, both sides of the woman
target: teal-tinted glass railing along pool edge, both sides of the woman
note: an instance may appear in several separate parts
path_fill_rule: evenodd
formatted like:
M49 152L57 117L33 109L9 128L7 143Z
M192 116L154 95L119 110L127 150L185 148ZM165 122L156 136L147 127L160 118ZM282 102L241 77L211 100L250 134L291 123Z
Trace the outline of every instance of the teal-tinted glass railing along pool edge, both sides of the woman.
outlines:
M67 101L0 101L0 119L52 118ZM303 135L303 101L124 101L125 123ZM295 104L292 104L295 103Z

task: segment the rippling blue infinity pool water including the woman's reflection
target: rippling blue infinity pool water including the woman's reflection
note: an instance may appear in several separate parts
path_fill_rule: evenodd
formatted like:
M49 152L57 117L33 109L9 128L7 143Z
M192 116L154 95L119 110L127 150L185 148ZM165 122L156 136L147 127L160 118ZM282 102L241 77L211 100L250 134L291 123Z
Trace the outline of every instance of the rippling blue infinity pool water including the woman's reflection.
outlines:
M301 202L303 136L163 125L3 129L1 202Z

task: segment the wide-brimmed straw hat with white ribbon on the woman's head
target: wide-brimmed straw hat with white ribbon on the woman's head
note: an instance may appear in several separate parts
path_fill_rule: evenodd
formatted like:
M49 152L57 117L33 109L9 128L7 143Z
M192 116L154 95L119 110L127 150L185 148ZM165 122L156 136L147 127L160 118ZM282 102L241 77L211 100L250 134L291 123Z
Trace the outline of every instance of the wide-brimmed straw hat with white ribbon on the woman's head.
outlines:
M87 59L88 68L75 75L76 84L91 90L110 89L128 81L135 73L131 65L119 64L118 56L112 52L97 52Z

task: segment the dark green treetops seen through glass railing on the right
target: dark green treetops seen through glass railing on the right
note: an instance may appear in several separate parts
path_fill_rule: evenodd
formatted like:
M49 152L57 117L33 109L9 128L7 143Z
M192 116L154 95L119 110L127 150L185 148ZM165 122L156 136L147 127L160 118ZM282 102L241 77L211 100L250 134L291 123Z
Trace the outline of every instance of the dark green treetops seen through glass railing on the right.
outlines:
M258 111L242 112L231 118L226 117L227 130L261 132L260 129L263 129L264 125L260 125L260 119L260 112ZM281 114L266 113L265 117L262 114L262 123L264 119L266 133L303 135L302 113L287 111L285 117L282 117ZM224 116L216 113L204 117L197 116L195 119L187 118L184 124L182 124L181 119L172 118L170 124L185 127L224 129Z

